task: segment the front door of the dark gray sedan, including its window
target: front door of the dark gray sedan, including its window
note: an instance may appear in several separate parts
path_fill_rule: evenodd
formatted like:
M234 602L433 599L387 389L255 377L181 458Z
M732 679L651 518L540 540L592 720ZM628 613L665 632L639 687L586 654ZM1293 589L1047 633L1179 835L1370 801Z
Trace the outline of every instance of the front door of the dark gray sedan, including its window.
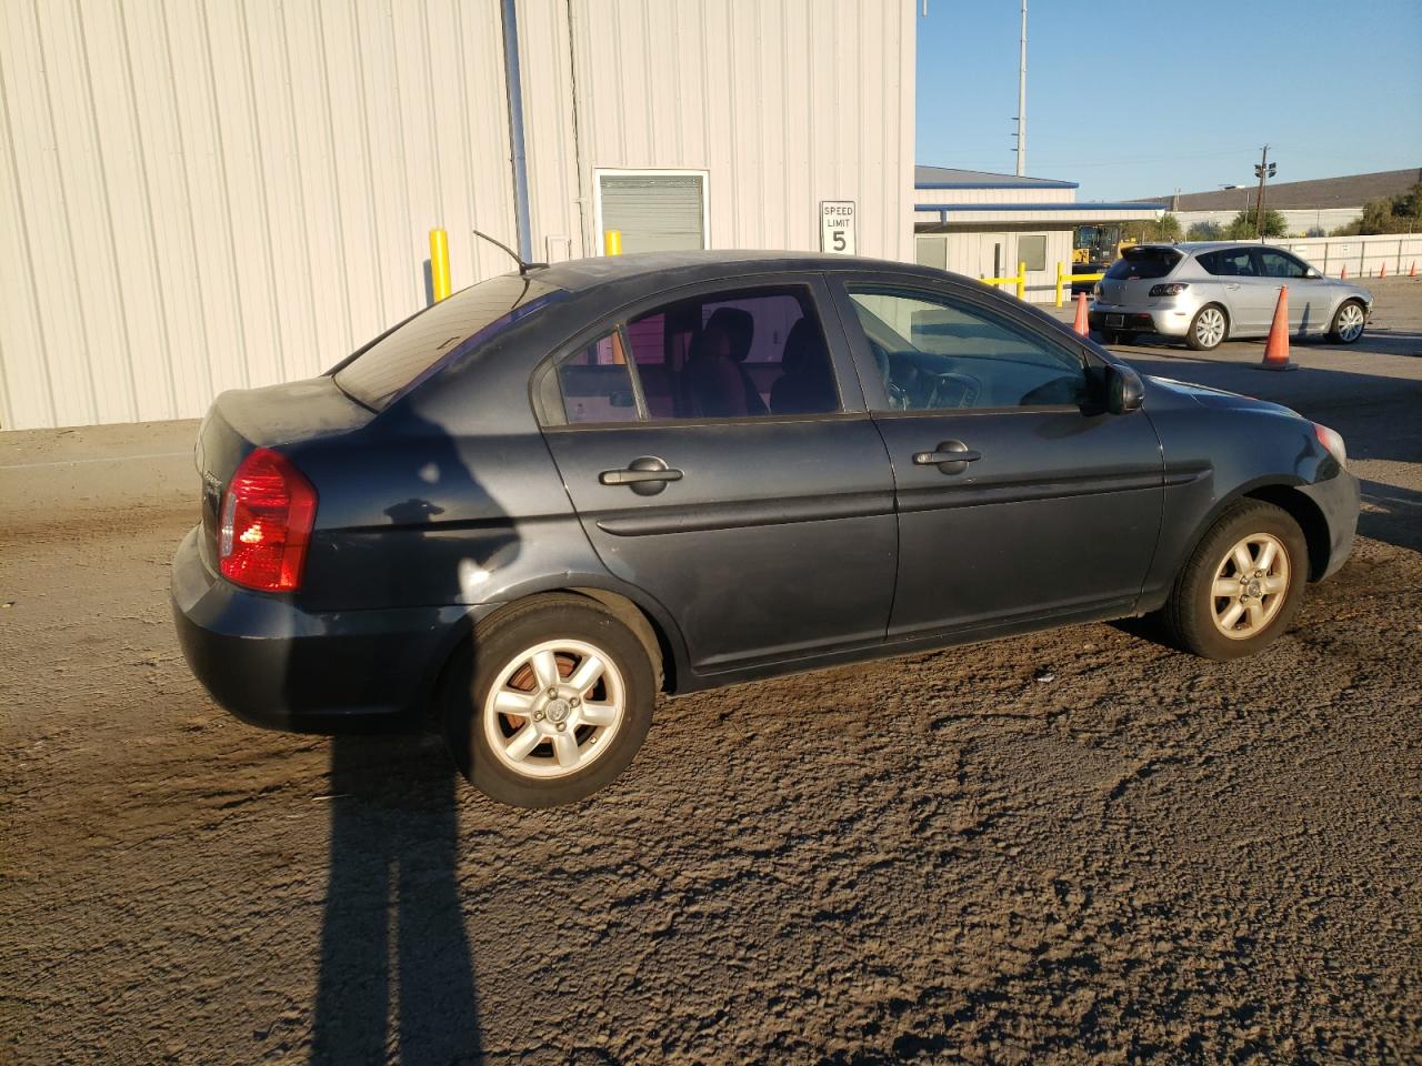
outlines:
M1160 524L1145 412L1103 414L1079 347L967 289L866 280L840 306L894 466L889 637L1126 613Z

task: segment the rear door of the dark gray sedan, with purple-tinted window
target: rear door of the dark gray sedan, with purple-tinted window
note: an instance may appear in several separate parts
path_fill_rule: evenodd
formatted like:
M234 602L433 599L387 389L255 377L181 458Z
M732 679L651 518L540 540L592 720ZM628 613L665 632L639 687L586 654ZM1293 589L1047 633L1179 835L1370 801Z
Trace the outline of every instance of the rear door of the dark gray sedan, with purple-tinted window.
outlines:
M700 672L883 641L893 473L826 298L818 274L664 294L538 384L593 547Z

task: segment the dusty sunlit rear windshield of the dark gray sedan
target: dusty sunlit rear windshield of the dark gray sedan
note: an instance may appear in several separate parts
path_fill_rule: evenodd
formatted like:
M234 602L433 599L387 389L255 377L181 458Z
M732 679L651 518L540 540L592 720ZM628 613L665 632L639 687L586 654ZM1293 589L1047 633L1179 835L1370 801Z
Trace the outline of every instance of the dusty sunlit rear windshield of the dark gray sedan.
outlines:
M336 384L381 411L445 360L482 344L562 293L536 277L503 274L407 318L336 368Z

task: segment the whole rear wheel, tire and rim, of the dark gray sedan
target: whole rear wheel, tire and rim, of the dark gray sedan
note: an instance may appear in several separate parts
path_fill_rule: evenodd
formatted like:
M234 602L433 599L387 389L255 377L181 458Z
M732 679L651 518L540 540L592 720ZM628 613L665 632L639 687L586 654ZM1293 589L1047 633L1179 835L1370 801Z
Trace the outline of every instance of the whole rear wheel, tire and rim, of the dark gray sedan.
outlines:
M552 807L616 779L651 725L653 667L602 604L540 596L475 631L448 672L444 726L491 799Z

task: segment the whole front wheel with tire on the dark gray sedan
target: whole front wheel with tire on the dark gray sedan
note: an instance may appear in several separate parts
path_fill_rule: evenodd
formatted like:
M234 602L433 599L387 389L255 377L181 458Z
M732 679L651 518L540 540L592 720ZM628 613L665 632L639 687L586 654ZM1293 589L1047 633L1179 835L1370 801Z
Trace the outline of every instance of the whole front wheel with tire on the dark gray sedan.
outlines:
M1308 547L1288 512L1241 500L1210 527L1176 578L1166 632L1186 651L1233 659L1288 628L1303 603Z

